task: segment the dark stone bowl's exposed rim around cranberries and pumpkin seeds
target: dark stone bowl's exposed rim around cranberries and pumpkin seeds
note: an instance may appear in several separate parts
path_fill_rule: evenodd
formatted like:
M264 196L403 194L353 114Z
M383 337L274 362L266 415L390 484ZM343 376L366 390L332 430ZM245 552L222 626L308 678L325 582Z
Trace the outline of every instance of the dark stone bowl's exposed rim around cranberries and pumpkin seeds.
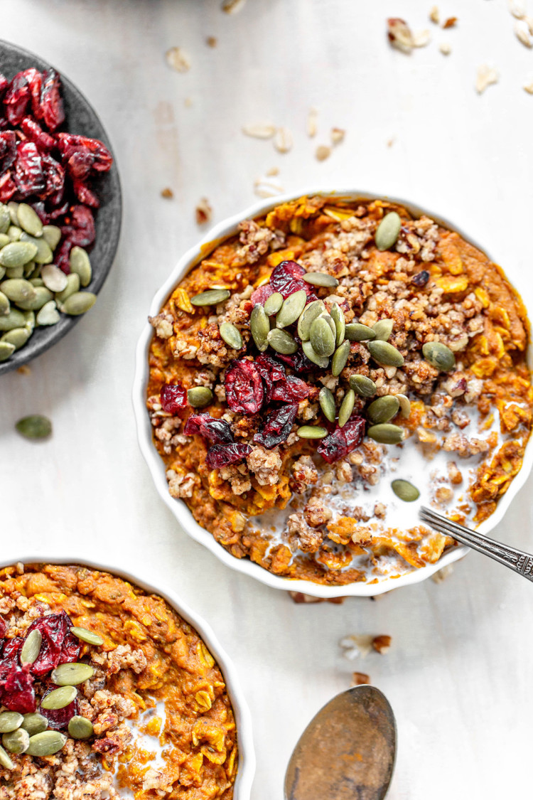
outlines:
M43 61L42 58L38 58L28 50L22 50L21 47L0 40L0 72L8 80L21 70L27 70L30 67L35 67L38 70L47 70L50 69L50 66L48 62ZM100 139L111 150L104 126L101 124L93 107L81 91L60 70L58 70L58 73L61 75L62 94L65 102L66 123L63 126L64 130L68 130L73 134L83 134L84 136ZM96 239L93 249L89 252L93 278L89 286L86 286L86 290L97 294L113 264L121 230L121 184L115 161L113 161L113 166L109 172L102 173L95 180L94 186L98 198L100 198L101 206L95 214ZM93 313L93 311L89 311L89 314ZM20 350L15 350L7 361L0 362L0 375L10 370L15 370L18 366L26 364L32 358L44 353L45 350L48 350L49 347L68 334L79 319L80 317L68 317L66 314L62 314L56 325L36 327L28 342Z

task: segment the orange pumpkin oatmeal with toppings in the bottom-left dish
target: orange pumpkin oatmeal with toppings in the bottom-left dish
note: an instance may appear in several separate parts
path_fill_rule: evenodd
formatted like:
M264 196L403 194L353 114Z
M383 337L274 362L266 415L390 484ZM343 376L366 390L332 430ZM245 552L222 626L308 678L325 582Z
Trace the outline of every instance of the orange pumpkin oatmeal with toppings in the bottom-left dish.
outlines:
M0 570L0 800L233 798L224 678L162 599L84 566Z

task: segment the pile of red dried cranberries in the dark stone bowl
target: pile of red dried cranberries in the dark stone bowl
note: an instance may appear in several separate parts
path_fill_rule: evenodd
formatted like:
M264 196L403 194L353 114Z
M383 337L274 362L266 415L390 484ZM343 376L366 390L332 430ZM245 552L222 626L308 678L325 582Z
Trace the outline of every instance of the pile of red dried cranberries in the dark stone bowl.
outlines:
M0 74L0 202L27 202L61 228L54 263L68 274L70 250L94 242L100 202L89 182L113 158L97 139L58 132L64 122L55 70L23 70L12 81Z

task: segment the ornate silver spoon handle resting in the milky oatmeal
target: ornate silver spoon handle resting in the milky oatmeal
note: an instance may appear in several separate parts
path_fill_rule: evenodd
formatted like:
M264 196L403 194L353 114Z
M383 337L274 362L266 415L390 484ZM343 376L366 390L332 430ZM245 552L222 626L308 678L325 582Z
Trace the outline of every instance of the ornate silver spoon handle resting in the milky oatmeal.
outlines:
M436 511L425 506L422 506L419 514L424 522L428 522L428 525L441 534L452 536L461 544L494 558L500 564L508 566L510 570L523 575L528 581L533 581L533 555L524 553L523 550L518 550L516 547L504 545L503 542L495 542L494 539L479 534L477 530L465 528L463 525L459 525L459 522L451 522L451 519L447 519L442 514L437 514Z

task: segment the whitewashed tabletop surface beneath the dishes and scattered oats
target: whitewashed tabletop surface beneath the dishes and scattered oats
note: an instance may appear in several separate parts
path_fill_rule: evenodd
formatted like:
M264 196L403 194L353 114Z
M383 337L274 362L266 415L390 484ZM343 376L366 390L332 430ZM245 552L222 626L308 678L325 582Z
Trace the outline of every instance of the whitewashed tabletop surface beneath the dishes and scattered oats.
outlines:
M533 13L533 0L531 13ZM253 712L253 800L277 800L300 732L352 669L370 674L396 711L400 746L391 800L525 798L531 792L533 587L471 554L432 581L378 602L295 606L217 562L177 528L136 442L130 391L137 336L157 286L198 238L205 196L213 221L253 201L253 180L280 167L285 190L327 184L400 197L455 220L483 242L533 308L531 131L533 51L515 38L505 0L454 0L453 30L420 0L1 0L2 38L34 50L96 107L121 170L125 210L117 260L97 306L31 374L0 386L2 560L70 556L131 568L172 586L209 619L241 674ZM391 50L388 16L428 27L432 44ZM218 38L216 49L205 37ZM449 42L452 53L437 44ZM183 46L192 67L165 65ZM482 96L475 72L501 78ZM191 98L192 106L185 106ZM305 134L320 110L316 139ZM245 138L272 121L294 147ZM343 145L319 163L329 130ZM392 146L388 141L394 139ZM171 186L173 200L160 197ZM47 414L49 442L14 433ZM527 482L495 534L533 550ZM390 634L388 654L351 664L338 641ZM324 798L326 800L326 798Z

